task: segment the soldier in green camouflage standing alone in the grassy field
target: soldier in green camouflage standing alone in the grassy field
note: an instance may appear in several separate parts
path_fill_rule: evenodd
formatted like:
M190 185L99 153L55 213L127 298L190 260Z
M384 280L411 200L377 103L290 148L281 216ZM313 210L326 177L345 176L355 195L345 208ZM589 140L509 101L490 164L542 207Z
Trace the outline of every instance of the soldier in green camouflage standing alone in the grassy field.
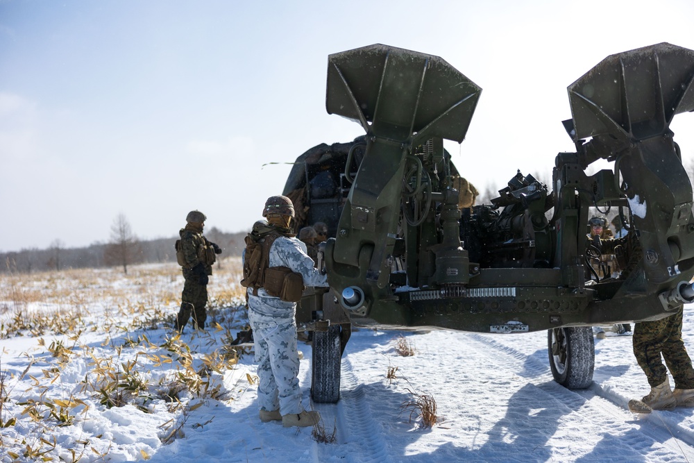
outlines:
M205 214L192 210L185 218L185 228L178 232L180 240L176 242L176 258L183 267L185 279L175 324L176 330L180 332L183 332L191 314L198 329L205 328L205 319L208 317L205 309L208 303L208 281L212 275L215 255L221 254L221 249L203 236L205 219Z

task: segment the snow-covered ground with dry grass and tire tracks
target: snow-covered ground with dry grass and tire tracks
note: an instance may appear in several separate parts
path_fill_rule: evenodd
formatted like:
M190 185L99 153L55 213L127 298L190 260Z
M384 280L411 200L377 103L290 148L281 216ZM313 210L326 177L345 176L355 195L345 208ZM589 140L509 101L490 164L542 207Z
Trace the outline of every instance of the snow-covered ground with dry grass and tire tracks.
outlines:
M355 330L335 405L311 403L300 343L304 405L335 441L261 423L251 349L227 346L244 310L225 265L209 288L216 328L180 339L166 325L175 266L0 276L0 462L694 461L694 409L627 410L648 384L632 338L613 333L595 342L593 385L570 391L552 380L546 332ZM434 399L432 428L403 406L414 394Z

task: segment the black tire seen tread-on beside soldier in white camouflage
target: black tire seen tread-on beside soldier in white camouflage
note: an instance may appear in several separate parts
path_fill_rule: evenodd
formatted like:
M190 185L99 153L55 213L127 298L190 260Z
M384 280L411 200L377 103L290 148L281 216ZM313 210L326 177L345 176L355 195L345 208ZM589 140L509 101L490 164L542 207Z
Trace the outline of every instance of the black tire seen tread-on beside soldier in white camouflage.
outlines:
M340 398L340 326L313 333L311 398L316 403L337 403Z

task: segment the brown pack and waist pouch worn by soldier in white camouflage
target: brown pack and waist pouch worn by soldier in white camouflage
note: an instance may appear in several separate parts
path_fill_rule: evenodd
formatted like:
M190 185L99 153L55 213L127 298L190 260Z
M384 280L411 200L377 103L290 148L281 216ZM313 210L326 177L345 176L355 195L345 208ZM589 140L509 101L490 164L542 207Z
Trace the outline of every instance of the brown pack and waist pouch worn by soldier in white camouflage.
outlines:
M241 285L253 288L254 296L258 294L257 289L262 287L267 294L278 297L282 301L298 302L303 293L301 274L291 271L289 267L268 266L270 247L280 236L282 235L276 231L262 235L251 232L246 235L244 278L241 280Z

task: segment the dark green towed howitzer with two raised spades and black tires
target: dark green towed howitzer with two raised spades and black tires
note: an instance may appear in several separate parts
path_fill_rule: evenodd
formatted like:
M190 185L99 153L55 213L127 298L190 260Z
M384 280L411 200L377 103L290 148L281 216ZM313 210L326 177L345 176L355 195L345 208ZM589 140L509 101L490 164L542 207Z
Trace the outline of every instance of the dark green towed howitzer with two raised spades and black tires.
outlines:
M316 329L314 401L339 398L351 324L548 330L555 380L584 388L591 326L660 319L693 301L692 187L669 128L694 110L693 79L694 51L671 44L605 58L568 87L576 152L556 156L552 191L518 171L491 205L461 210L443 139L464 140L480 87L414 51L330 55L328 112L366 135L346 155L307 152L285 187L323 212L312 219L333 236L323 249L330 292L301 302ZM600 159L613 169L587 174ZM312 182L326 170L341 182L317 198ZM328 200L337 202L325 210ZM618 278L586 278L591 208L617 208L629 224Z

